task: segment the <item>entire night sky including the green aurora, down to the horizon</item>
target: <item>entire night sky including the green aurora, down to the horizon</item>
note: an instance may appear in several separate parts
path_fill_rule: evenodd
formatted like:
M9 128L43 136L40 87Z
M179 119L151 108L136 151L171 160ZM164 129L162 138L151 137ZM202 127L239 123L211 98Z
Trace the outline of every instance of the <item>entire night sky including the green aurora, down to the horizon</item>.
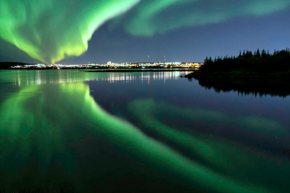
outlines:
M202 62L290 47L289 0L0 3L0 61Z

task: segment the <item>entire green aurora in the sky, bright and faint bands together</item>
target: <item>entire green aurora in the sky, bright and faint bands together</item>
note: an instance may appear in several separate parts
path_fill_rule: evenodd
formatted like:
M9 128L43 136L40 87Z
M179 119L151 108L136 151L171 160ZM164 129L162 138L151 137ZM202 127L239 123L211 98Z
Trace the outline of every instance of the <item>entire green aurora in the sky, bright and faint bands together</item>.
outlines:
M67 56L80 56L100 25L132 7L110 22L110 26L121 26L131 35L152 36L234 17L262 16L290 6L288 0L139 1L0 0L1 38L32 58L55 63Z

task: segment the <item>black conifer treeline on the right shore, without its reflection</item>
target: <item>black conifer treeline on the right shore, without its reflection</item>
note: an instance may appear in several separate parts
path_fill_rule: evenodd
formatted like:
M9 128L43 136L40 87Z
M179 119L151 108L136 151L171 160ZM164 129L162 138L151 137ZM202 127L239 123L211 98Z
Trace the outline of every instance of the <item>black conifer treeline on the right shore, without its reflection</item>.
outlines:
M218 70L233 71L244 69L258 72L289 71L290 70L290 50L276 51L270 53L269 49L262 51L257 49L254 52L249 50L240 51L238 56L218 56L215 59L206 57L204 64L199 68L200 71Z

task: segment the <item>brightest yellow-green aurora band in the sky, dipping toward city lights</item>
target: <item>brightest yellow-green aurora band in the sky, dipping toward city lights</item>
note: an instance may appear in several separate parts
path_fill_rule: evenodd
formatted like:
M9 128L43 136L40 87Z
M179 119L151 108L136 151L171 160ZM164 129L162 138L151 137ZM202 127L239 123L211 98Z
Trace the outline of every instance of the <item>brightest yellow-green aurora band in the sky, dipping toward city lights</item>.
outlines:
M138 1L1 0L1 38L32 58L55 63L84 53L100 25Z

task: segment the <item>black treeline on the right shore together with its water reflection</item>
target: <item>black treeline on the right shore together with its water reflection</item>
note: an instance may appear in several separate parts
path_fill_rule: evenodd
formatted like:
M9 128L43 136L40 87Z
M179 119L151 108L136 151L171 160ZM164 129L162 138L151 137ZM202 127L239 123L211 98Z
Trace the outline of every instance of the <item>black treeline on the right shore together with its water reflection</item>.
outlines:
M254 53L240 51L238 56L206 57L204 64L184 77L199 81L216 92L238 91L244 94L285 97L290 94L290 50Z

